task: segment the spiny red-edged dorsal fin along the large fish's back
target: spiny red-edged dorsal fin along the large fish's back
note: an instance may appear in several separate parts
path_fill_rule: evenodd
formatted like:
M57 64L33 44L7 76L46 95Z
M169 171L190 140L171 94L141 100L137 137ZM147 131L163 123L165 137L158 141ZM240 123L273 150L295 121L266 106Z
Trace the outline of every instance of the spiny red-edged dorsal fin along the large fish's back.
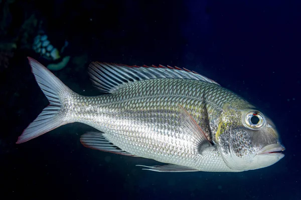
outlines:
M96 87L103 92L113 93L118 86L139 80L155 78L183 78L200 80L218 84L214 80L207 78L195 71L177 66L128 66L123 64L91 62L89 75ZM218 84L219 85L219 84Z

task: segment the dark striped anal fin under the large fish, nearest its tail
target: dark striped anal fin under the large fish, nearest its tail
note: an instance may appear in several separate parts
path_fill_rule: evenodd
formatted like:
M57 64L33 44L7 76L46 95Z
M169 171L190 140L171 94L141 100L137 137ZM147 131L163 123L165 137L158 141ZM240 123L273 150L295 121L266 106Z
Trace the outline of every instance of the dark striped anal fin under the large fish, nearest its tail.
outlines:
M120 155L136 156L120 149L118 146L108 141L104 137L102 132L87 132L80 137L80 142L88 148L116 153Z

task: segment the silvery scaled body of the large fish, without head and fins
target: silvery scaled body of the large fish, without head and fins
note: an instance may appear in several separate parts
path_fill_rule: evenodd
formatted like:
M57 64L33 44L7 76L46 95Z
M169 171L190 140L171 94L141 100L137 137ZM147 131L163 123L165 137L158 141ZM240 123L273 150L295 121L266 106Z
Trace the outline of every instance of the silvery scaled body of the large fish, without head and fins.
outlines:
M199 89L187 89L186 86L189 84L194 84ZM203 87L209 87L207 90L211 89L212 92L207 91L202 94L202 92L206 92L206 89L202 89ZM125 95L133 90L135 95ZM185 139L185 134L176 128L179 126L177 124L177 103L183 105L198 124L207 125L207 120L198 115L200 112L197 110L208 109L209 118L214 120L214 117L217 117L221 111L223 100L226 101L225 98L214 101L217 96L210 99L218 91L219 95L227 95L226 90L216 89L212 83L187 79L143 80L125 85L114 94L79 98L72 96L71 99L78 99L74 104L80 107L75 106L75 113L71 115L83 114L75 121L89 124L105 132L104 136L110 142L131 154L205 170L202 166L206 164L206 159L200 159L202 155L195 151L190 141ZM202 96L204 99L197 96ZM86 112L86 107L81 107L81 105L82 102L88 101L91 110ZM69 111L72 112L72 110ZM148 113L147 117L144 115L145 112ZM91 115L93 117L90 117ZM167 124L169 125L167 126ZM204 125L202 127L216 129L216 127ZM213 130L213 132L215 131ZM213 135L208 135L208 137L212 138ZM177 148L177 145L181 148ZM228 170L225 164L220 163L225 170ZM215 167L219 168L220 166ZM211 169L206 168L206 170Z

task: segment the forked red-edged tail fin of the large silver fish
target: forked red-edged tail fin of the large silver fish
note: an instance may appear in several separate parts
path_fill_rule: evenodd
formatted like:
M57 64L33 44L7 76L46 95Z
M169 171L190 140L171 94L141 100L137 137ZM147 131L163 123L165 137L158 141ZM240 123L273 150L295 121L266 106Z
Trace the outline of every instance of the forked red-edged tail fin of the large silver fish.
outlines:
M23 143L69 122L61 111L62 96L73 91L40 62L31 57L28 57L28 60L32 72L50 104L29 124L16 143Z

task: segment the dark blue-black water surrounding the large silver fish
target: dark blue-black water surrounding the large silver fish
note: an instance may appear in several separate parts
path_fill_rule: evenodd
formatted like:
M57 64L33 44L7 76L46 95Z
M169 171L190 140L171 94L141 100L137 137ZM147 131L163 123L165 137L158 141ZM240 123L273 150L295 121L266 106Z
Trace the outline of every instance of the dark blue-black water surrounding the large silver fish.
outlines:
M301 1L2 0L0 5L0 60L11 57L9 64L0 62L3 199L301 199ZM54 73L74 91L99 94L89 81L90 61L186 67L261 107L281 134L285 157L239 173L145 171L135 164L158 162L82 146L80 135L91 128L80 123L15 144L48 104L26 59L50 63L31 48L39 21L53 45L68 40L62 56L71 60ZM8 42L17 48L8 50Z

